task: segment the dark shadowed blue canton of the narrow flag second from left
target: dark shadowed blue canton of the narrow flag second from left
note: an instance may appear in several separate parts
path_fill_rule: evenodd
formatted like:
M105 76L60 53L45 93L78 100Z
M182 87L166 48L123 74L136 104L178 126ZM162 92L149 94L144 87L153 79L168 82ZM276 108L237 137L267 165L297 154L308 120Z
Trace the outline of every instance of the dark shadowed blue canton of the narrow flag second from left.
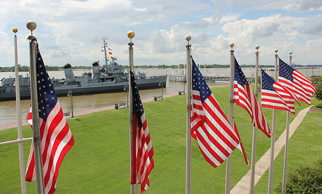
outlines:
M141 97L139 94L139 90L136 85L136 81L134 79L134 74L132 71L130 71L130 75L131 75L131 87L132 87L133 115L134 114L136 115L137 127L141 129L142 128L141 116L144 113L143 105L142 105Z

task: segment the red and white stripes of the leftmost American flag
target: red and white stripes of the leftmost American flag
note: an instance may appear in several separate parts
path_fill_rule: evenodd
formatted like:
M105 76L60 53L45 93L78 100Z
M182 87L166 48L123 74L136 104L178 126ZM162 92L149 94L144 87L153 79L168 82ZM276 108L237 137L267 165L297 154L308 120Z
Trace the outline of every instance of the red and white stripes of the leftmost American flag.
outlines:
M32 125L31 107L27 115L27 122ZM56 190L56 180L60 164L65 154L74 145L72 132L69 129L58 101L48 115L47 122L39 118L39 129L45 193L53 194ZM33 141L27 162L26 180L36 180Z

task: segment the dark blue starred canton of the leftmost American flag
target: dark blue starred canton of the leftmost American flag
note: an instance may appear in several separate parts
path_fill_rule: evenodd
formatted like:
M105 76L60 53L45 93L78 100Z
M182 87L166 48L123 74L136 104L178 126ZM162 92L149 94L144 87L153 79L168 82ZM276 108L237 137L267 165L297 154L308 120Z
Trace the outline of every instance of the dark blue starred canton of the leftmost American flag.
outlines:
M38 44L37 44L38 49ZM53 110L57 103L57 96L48 72L38 49L37 62L37 92L38 92L38 112L39 117L47 120L48 114Z

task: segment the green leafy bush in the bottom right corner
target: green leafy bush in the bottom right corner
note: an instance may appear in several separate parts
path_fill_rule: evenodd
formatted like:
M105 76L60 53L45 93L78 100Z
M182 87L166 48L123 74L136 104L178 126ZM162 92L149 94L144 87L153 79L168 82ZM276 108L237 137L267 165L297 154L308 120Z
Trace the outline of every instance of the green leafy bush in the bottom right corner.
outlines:
M280 182L275 189L282 193ZM286 194L322 194L322 159L313 165L300 165L299 168L287 174Z

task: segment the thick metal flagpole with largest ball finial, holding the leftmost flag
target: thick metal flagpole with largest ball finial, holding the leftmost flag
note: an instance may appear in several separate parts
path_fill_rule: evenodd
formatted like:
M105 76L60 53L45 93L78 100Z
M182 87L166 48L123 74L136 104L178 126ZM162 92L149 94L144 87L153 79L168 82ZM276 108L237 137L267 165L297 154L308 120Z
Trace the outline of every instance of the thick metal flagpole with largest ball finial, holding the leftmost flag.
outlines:
M33 123L33 141L35 155L35 171L36 171L36 186L37 194L44 194L44 179L42 173L41 147L40 147L40 131L39 131L39 116L38 116L38 92L37 92L37 38L33 36L33 30L37 27L36 22L28 21L27 28L31 31L31 36L28 37L30 49L30 86L31 86L31 111Z

